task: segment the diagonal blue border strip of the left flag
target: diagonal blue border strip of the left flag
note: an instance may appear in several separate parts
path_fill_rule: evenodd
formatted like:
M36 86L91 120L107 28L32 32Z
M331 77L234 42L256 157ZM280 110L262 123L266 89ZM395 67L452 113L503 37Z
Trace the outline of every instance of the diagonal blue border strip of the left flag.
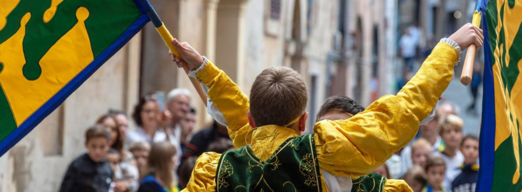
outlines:
M135 2L136 3L136 2ZM143 13L144 8L136 3L142 14L118 37L107 49L105 49L98 57L94 58L87 67L85 67L76 77L70 80L60 91L58 91L49 101L45 102L37 111L29 116L18 128L11 132L4 140L0 142L0 157L4 155L18 141L31 132L42 120L51 114L58 106L60 106L70 94L82 85L93 73L98 70L109 58L111 58L118 50L120 50L129 40L131 40L147 22L149 17ZM147 9L147 8L145 8Z

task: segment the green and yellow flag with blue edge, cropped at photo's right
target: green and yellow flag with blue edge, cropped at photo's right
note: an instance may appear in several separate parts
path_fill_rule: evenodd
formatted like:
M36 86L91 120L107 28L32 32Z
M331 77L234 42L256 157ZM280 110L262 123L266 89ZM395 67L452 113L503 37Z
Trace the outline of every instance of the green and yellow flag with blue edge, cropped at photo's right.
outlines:
M522 191L522 0L479 0L477 8L485 62L477 187Z

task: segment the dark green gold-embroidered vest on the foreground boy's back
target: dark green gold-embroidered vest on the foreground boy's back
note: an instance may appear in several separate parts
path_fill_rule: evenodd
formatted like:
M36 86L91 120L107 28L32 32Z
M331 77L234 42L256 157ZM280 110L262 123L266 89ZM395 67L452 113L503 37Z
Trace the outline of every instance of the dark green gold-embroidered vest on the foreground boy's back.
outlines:
M250 147L223 153L216 191L321 191L313 135L290 138L261 161Z

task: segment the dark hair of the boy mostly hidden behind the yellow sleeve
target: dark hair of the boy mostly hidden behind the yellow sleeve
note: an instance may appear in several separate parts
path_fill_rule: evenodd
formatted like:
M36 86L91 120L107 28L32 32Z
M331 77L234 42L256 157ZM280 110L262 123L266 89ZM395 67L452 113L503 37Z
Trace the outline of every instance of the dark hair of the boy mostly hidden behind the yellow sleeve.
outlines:
M350 113L352 115L361 113L364 111L364 107L357 104L352 99L346 96L332 96L326 99L326 101L321 106L321 109L317 113L317 120L322 116L326 115L326 113L332 110L339 110L342 112Z

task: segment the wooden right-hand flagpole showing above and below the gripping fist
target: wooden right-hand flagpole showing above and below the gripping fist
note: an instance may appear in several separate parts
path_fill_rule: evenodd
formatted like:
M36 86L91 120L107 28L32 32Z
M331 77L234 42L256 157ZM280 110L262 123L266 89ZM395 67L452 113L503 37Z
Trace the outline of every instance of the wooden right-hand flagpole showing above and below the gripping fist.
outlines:
M480 13L475 11L473 14L473 20L471 24L474 26L480 27ZM464 48L464 47L460 47ZM473 64L475 62L475 52L477 51L477 47L475 44L470 44L468 46L468 51L466 52L466 58L464 59L464 66L462 66L462 74L460 75L460 82L462 85L469 85L471 83L471 77L473 75Z

